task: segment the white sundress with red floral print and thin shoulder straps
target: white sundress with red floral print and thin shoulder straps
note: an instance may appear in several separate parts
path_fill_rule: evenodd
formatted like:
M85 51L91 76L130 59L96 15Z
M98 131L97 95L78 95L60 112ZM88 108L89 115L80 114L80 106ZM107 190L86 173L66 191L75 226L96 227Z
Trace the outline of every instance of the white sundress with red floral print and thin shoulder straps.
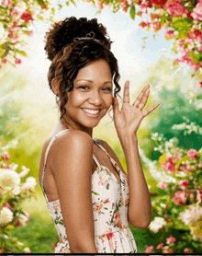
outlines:
M67 129L65 129L67 130ZM61 134L63 131L59 132ZM66 235L66 229L63 222L60 200L49 202L43 188L43 179L45 174L46 159L54 138L47 147L42 172L40 186L44 193L50 216L59 236L59 242L55 247L55 253L69 252L70 245ZM117 162L108 155L107 150L99 145L94 139L96 145L102 148L111 163L118 171L119 180L105 166L101 166L95 155L93 158L97 165L92 174L92 202L95 224L95 247L98 253L137 253L137 245L128 222L128 204L129 204L129 183L128 175L118 168Z

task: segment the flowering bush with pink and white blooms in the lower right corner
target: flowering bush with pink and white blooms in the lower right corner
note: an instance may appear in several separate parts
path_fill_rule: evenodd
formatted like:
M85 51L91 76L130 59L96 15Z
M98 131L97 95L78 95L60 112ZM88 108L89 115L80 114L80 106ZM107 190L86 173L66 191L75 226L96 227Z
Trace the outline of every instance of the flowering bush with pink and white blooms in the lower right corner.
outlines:
M152 233L163 232L161 242L154 247L146 246L145 252L192 253L202 248L202 148L180 148L178 139L166 141L163 134L152 134L161 153L155 162L159 172L174 178L157 180L157 192L161 196L152 200L155 216L149 229ZM172 231L173 230L173 231ZM180 230L180 231L179 231ZM170 234L180 234L180 239ZM183 232L184 236L181 235ZM190 247L191 245L191 247ZM193 249L195 250L193 251Z

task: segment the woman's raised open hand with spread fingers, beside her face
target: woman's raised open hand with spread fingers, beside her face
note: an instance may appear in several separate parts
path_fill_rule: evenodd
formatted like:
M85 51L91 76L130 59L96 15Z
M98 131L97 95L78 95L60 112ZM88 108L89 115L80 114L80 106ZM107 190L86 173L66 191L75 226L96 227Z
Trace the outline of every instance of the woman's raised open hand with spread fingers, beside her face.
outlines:
M150 85L144 87L132 105L129 104L129 81L125 83L123 92L123 104L121 111L118 107L118 99L114 98L113 118L118 135L136 134L141 120L151 111L154 111L160 103L154 104L150 109L142 111L150 94Z

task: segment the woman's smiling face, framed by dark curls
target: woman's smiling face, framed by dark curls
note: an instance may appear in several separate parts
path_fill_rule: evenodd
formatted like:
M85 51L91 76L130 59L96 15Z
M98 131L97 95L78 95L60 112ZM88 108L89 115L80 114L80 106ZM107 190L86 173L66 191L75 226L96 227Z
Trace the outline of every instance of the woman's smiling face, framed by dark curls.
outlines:
M111 71L107 62L100 59L79 70L65 108L68 117L81 128L93 128L107 114L112 100Z

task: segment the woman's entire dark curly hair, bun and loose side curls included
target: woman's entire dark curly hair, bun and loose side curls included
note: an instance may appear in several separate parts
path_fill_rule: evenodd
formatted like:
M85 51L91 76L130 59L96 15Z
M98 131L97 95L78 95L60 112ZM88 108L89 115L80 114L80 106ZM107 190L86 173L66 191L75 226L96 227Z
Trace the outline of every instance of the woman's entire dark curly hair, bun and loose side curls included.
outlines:
M94 38L74 40L86 38L90 32L94 33ZM73 90L73 80L78 71L95 60L103 59L109 65L115 84L114 97L117 97L120 91L118 61L110 52L112 41L107 37L107 29L101 23L98 24L96 18L87 20L86 17L67 17L52 25L45 40L44 49L51 61L48 73L50 89L52 83L59 89L56 102L61 111L60 119L66 113L67 93Z

